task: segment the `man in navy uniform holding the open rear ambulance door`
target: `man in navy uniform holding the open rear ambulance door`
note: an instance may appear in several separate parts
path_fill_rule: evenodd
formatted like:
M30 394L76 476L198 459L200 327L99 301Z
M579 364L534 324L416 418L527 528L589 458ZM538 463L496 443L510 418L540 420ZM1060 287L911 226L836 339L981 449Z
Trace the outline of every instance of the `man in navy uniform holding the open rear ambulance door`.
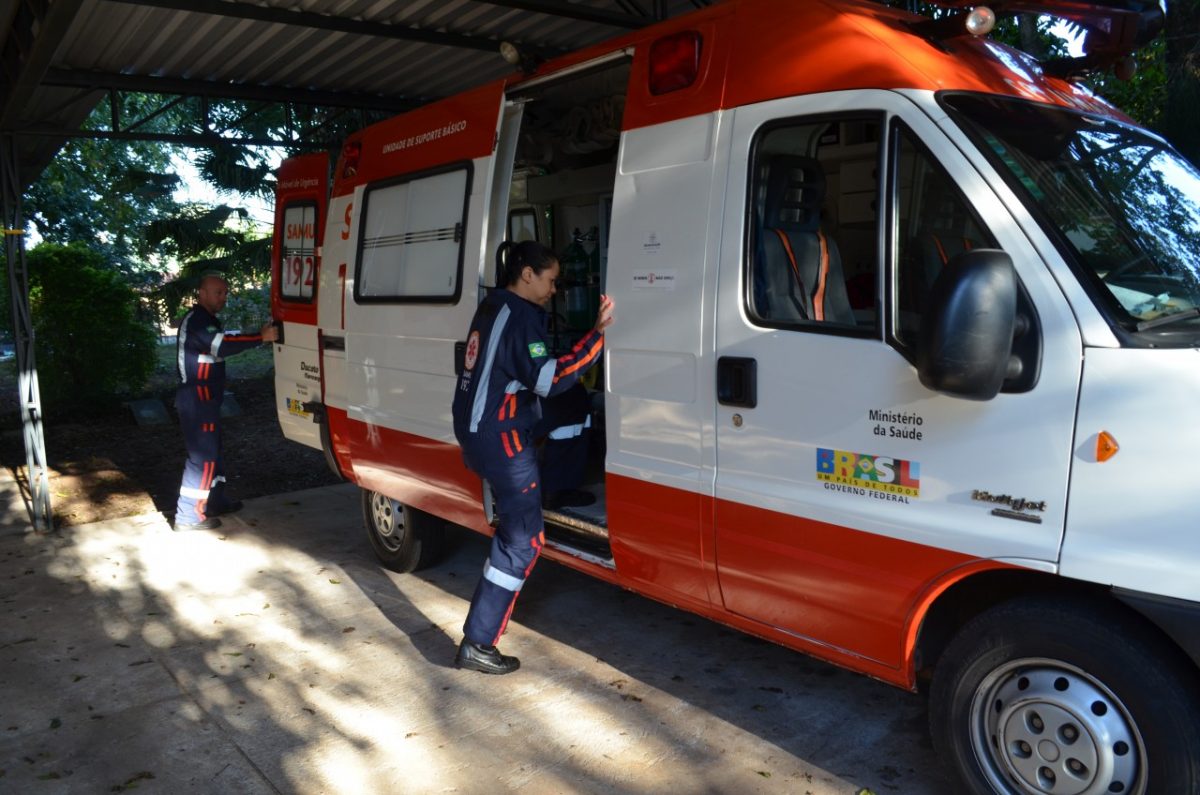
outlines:
M235 353L278 339L268 323L258 334L226 334L217 319L229 297L224 275L206 270L200 275L196 305L179 325L176 361L179 388L175 410L184 429L187 462L179 486L175 530L211 530L221 526L217 514L241 508L224 492L221 460L221 401L224 398L224 360Z

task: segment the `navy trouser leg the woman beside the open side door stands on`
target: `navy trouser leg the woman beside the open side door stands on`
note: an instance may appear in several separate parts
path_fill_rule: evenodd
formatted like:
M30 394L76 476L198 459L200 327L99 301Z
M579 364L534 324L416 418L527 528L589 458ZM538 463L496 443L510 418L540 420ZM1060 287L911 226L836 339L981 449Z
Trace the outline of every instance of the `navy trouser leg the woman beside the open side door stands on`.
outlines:
M541 551L541 489L535 485L538 466L532 447L511 459L494 447L475 453L482 453L472 458L484 459L480 474L492 484L500 522L462 629L472 642L494 645Z

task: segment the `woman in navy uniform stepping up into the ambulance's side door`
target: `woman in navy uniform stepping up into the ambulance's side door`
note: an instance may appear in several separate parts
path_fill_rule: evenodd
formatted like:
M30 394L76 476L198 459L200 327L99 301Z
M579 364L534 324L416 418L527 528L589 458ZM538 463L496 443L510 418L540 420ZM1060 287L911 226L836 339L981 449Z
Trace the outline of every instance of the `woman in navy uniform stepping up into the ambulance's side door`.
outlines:
M475 311L454 395L463 461L491 483L500 519L455 659L458 668L485 674L521 665L496 644L545 542L533 444L540 400L565 393L600 360L604 329L612 323L612 299L602 295L595 327L566 354L550 355L542 305L554 294L558 273L558 258L535 241L500 245L497 282L505 288L490 292Z

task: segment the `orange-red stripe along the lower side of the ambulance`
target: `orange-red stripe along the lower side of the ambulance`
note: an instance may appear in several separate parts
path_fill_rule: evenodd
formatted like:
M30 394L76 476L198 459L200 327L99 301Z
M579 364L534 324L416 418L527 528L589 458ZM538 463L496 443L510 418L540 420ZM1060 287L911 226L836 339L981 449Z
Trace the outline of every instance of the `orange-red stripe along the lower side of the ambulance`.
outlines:
M359 485L481 534L493 532L480 509L479 478L462 465L457 444L344 416L341 423L354 453L355 466L347 473ZM916 687L913 654L922 621L938 597L982 572L1016 568L611 472L605 488L614 568L552 546L542 555L908 689ZM718 543L718 536L731 539L745 528L757 528L749 531L754 544L748 549ZM778 594L804 600L811 623L824 634L800 636L737 612L722 594L731 579L740 580L743 599L760 605L769 605Z

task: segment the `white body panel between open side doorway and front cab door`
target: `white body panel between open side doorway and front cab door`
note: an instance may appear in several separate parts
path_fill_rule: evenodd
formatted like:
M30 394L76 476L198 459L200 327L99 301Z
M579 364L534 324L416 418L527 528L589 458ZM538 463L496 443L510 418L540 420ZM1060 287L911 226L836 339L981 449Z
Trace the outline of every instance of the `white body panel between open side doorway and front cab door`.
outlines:
M706 496L725 115L622 137L605 286L617 306L605 333L606 470Z

